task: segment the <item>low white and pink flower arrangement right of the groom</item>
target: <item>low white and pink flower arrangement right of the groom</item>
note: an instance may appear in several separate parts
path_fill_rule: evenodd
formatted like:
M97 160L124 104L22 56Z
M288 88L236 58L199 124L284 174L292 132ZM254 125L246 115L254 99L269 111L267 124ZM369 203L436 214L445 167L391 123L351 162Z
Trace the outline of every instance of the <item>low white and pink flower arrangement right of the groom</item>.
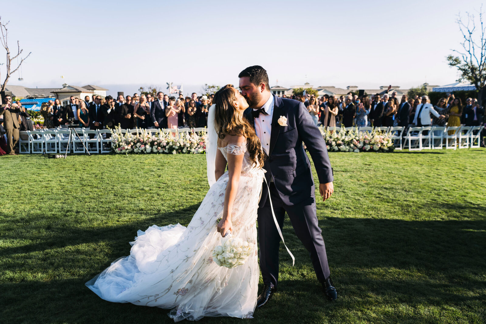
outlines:
M392 133L379 131L376 128L371 133L359 132L357 127L346 131L341 128L334 132L319 128L330 152L393 152Z

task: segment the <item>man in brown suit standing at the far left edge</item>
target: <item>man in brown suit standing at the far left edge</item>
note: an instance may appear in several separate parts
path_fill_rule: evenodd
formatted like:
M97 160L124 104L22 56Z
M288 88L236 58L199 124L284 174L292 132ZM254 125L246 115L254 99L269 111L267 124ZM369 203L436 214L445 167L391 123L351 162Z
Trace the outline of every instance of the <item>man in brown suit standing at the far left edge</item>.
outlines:
M18 122L18 119L20 119L19 114L21 111L17 103L11 102L12 96L5 95L5 103L0 106L0 116L3 116L3 127L5 128L7 136L6 153L17 155L15 151L19 137L20 123Z

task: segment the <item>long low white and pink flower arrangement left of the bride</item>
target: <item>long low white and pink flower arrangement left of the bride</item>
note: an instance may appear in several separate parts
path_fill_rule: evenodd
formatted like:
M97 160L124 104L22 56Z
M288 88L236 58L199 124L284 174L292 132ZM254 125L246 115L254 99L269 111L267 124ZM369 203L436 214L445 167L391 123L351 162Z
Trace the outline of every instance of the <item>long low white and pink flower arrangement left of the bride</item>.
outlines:
M204 133L151 133L139 129L138 134L121 133L121 128L111 130L111 148L115 153L206 153Z

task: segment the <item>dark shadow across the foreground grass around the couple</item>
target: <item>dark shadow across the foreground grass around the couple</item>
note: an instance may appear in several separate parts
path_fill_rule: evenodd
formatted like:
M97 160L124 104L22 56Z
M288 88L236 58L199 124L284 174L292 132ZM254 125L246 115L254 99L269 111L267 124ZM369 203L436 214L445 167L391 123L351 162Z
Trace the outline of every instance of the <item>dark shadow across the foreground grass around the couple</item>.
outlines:
M127 242L136 229L154 223L174 223L181 217L184 221L190 220L196 209L197 205L193 205L121 226L73 228L66 231L62 240L46 237L38 244L3 249L1 255L40 252L52 246L85 242L97 247L98 242L111 240L110 251L103 250L105 246L97 250L114 260L123 255L119 254L121 250L127 255ZM484 208L478 207L478 212L481 211ZM374 312L380 314L383 322L424 323L446 316L451 307L460 308L466 319L484 316L481 309L485 308L486 296L486 221L326 218L321 226L331 274L339 293L338 302L329 303L323 298L320 285L309 270L312 265L308 253L287 225L284 236L288 238L297 263L291 268L290 258L281 250L281 273L285 272L289 279L279 282L278 294L268 307L257 310L252 323L380 322L374 318ZM29 234L26 232L24 236ZM93 254L89 252L85 257ZM88 290L84 283L106 264L80 264L72 253L59 257L63 258L62 264L67 270L81 269L80 273L84 274L50 282L2 283L0 301L4 305L4 318L15 319L12 323L135 323L140 319L149 323L172 323L166 317L167 310L109 303ZM13 271L25 271L21 258L15 259L12 266ZM36 271L52 269L39 260ZM306 272L307 278L303 279L301 273ZM388 306L392 309L422 307L427 311L414 313L412 317L403 309L385 310ZM206 322L241 323L241 320L208 318L201 321Z

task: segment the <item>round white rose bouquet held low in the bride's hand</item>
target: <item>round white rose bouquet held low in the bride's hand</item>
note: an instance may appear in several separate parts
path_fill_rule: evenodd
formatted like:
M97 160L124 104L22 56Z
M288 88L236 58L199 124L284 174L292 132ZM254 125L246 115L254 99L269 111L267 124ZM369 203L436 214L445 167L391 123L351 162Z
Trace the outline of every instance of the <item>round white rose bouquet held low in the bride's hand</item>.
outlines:
M221 245L214 248L212 257L218 266L233 268L245 263L254 252L254 245L240 238L223 238Z

